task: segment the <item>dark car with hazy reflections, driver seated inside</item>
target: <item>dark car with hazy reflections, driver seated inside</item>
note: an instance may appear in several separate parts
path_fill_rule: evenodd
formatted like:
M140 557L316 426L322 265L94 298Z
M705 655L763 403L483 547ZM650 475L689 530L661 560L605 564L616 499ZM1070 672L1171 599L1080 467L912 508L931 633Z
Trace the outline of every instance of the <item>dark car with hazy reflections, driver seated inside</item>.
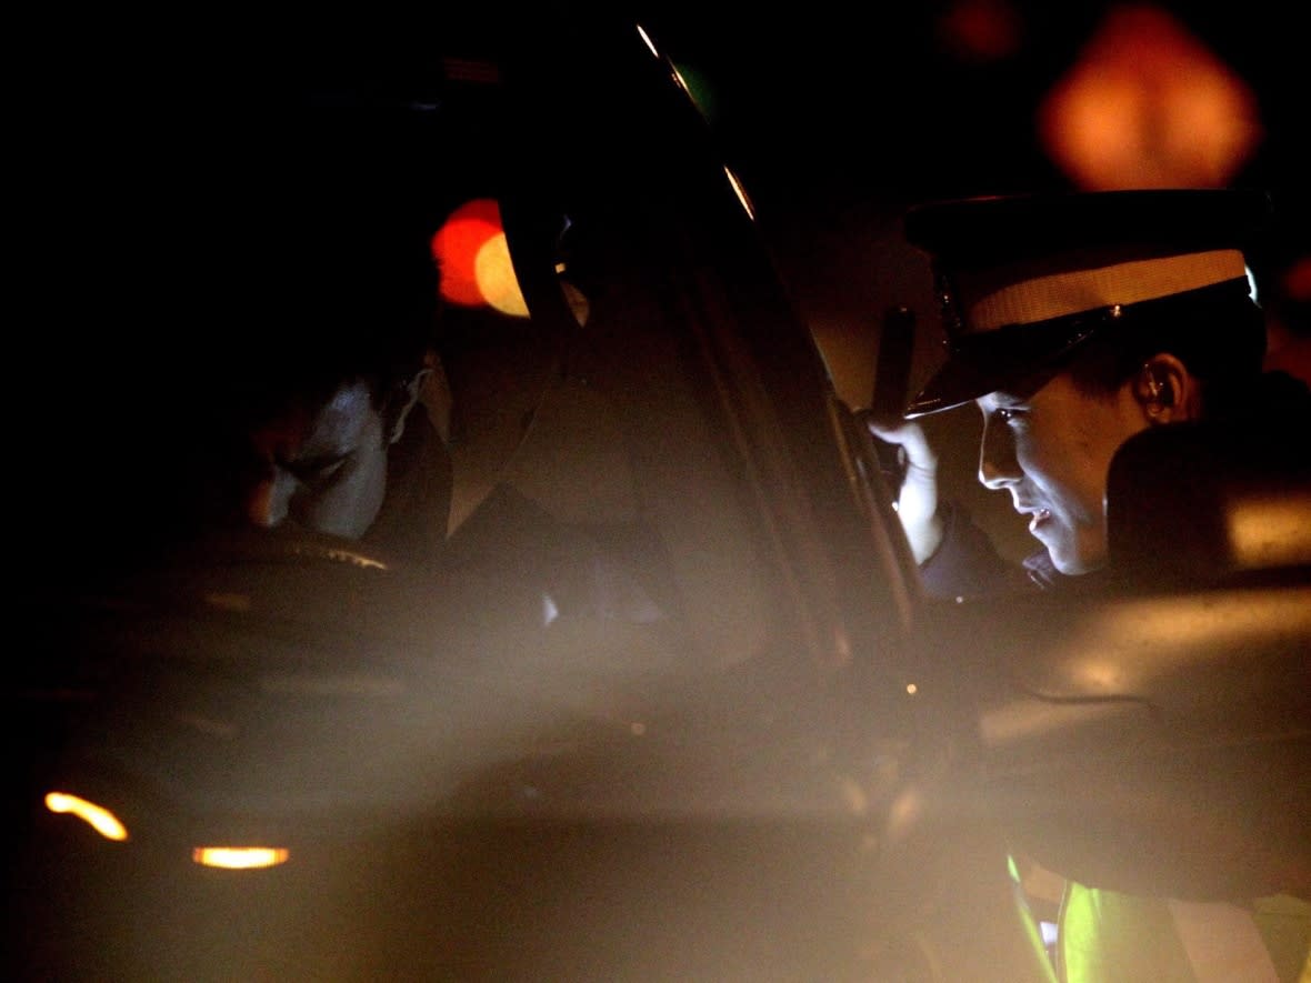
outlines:
M881 448L658 38L451 20L229 14L203 45L97 48L123 118L87 198L157 233L105 258L114 299L203 307L177 244L249 204L236 169L298 114L382 157L434 235L481 203L469 275L499 257L511 282L455 304L450 370L540 370L506 383L528 412L482 477L603 543L658 613L570 609L507 553L163 535L140 502L169 440L100 427L73 471L114 480L21 547L7 975L1013 983L1053 978L1016 844L1151 893L1306 889L1304 539L1167 588L927 596ZM104 419L210 392L202 326L93 345L84 381L128 392ZM1150 522L1223 524L1232 498ZM1141 561L1146 519L1113 501Z

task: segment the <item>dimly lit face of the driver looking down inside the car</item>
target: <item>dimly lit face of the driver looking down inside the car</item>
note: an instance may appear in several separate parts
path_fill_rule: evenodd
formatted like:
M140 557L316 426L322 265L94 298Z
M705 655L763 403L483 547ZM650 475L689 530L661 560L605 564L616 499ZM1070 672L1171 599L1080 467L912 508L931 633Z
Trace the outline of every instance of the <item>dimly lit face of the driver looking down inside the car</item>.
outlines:
M252 434L260 473L245 497L257 526L291 520L358 539L387 490L382 414L364 383L342 384L319 406L287 413Z

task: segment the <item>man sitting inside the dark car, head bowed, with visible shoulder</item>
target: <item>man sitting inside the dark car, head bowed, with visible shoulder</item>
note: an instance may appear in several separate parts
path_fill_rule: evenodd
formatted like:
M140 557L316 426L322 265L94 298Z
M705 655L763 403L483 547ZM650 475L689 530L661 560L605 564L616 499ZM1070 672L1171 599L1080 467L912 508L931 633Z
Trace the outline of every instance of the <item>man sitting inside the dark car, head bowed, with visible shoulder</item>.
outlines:
M443 307L430 233L406 223L343 222L338 210L265 228L246 271L267 275L264 307L284 316L232 346L227 392L210 401L228 408L219 430L239 461L216 495L227 522L355 540L493 578L507 598L518 585L513 596L532 598L547 623L662 619L624 544L510 481L517 463L548 485L536 472L561 467L553 452L520 460L530 431L576 438L545 438L538 419L558 342Z

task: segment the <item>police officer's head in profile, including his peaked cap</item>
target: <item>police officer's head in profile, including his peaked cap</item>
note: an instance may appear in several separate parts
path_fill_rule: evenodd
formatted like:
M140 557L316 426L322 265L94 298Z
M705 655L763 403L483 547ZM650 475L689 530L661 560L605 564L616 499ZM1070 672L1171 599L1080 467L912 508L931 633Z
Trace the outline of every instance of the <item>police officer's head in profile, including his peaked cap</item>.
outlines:
M979 480L1011 493L1059 571L1105 565L1106 477L1126 439L1218 414L1260 374L1243 248L1266 210L1264 195L1108 191L907 215L948 333L907 415L979 408Z

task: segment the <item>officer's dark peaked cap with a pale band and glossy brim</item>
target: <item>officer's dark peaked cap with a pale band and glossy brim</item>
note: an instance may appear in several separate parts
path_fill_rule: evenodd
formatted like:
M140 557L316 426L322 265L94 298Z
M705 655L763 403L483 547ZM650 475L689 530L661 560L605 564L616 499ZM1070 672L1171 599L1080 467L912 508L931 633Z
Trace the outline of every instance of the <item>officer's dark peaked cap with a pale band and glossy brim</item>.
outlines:
M911 208L905 235L932 263L948 354L906 415L1033 377L1126 313L1249 295L1244 249L1270 211L1264 191L1221 189L1049 193Z

